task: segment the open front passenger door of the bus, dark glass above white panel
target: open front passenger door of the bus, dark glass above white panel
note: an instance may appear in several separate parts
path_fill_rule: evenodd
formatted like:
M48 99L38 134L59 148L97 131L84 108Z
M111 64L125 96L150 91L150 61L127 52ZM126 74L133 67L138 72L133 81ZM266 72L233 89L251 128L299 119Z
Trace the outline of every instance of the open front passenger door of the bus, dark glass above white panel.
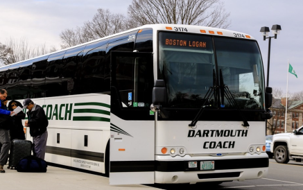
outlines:
M153 54L111 52L110 184L153 184Z

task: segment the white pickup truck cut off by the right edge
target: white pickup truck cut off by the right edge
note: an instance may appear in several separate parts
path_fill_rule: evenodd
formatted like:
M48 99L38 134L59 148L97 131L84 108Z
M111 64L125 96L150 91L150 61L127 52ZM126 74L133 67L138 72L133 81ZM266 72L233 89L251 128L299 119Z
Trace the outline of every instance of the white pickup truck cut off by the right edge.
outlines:
M302 162L303 159L303 126L292 133L280 133L274 135L270 144L270 152L273 153L278 163L286 164L290 159Z

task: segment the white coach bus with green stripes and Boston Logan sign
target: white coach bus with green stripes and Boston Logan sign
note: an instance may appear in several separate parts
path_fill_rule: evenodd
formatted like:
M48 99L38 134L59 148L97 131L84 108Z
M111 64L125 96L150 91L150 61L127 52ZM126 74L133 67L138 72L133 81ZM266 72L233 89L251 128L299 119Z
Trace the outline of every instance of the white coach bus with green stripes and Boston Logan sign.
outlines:
M3 66L0 87L10 100L44 108L47 162L105 173L110 184L268 173L271 88L257 41L245 33L141 26Z

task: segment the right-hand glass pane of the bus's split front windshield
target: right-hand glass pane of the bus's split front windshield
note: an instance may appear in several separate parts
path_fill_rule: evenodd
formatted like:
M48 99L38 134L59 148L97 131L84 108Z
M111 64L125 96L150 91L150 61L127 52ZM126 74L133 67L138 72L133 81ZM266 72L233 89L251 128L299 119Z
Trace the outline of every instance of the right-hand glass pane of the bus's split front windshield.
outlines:
M239 107L263 108L263 65L257 42L214 37L218 69ZM230 107L225 102L225 107Z

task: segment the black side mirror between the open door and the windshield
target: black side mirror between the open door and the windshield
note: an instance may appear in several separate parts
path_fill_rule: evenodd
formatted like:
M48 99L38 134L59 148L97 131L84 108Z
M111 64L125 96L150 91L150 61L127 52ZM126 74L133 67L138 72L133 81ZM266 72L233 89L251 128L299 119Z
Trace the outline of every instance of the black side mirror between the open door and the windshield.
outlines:
M153 105L166 103L166 87L164 80L156 80L153 88Z

